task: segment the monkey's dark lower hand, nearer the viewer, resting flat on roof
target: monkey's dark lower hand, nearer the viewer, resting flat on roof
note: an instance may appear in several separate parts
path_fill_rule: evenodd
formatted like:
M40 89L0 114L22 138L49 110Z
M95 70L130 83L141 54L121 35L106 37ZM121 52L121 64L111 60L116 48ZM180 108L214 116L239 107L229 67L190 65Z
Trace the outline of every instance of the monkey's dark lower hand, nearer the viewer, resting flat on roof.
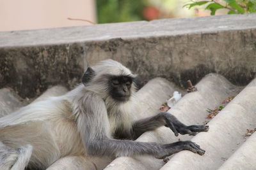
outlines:
M200 148L199 145L196 145L192 141L178 141L175 143L162 145L163 152L156 155L157 159L164 159L172 155L173 153L180 152L182 150L189 150L199 155L204 155L205 151Z

